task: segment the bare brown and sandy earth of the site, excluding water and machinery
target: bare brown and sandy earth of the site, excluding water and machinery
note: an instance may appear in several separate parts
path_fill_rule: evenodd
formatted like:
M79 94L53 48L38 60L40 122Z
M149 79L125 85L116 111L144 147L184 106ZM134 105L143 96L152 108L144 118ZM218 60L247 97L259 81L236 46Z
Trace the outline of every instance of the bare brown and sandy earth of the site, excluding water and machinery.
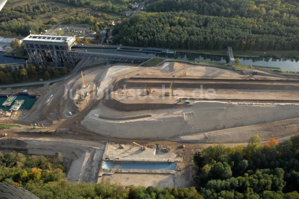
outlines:
M159 67L149 68L132 64L99 65L83 70L85 83L90 85L90 95L82 106L78 106L73 100L76 89L82 86L80 73L41 88L0 90L0 94L16 94L22 92L23 89L28 89L29 94L35 94L36 91L41 94L40 99L30 111L20 110L13 119L0 118L0 122L21 125L6 129L5 132L8 133L8 137L25 142L32 154L54 155L60 151L65 153L64 155L72 160L69 161L71 163L67 174L68 180L72 182L99 181L97 173L100 170L100 163L98 162L104 154L105 144L98 141L105 140L115 142L109 151L112 159L116 156L118 159L130 161L134 159L144 161L160 159L162 161L168 158L181 162L179 163L181 171L176 174L116 172L112 175L103 174L100 181L157 187L192 186L191 159L195 150L206 147L210 143L245 144L248 138L255 134L259 134L263 141L271 137L283 141L298 133L298 90L222 88L216 89L216 97L232 98L234 99L232 102L191 100L190 104L185 104L184 101L179 102L179 97L182 96L176 92L173 97L157 101L145 100L145 103L138 100L132 103L132 100L106 99L106 97L110 94L114 97L127 95L126 90L120 93L116 89L123 88L121 85L123 79L130 77L170 78L166 87L170 85L173 75L176 78L191 79L298 80L298 77L294 75L258 72L259 75L253 77L248 75L250 73L241 74L241 72L215 67L169 62ZM145 80L144 83L140 83L141 86L135 88L144 90ZM148 82L148 86L152 87L150 81ZM257 80L254 82L259 84ZM110 85L114 88L107 90L106 88ZM178 88L175 84L174 87ZM155 89L157 91L153 95L162 97L164 91L158 91L159 88ZM191 94L192 88L182 89L186 95ZM47 102L51 94L53 97ZM134 92L132 95L138 96ZM266 101L257 101L257 99ZM275 100L283 101L276 102ZM69 111L73 113L73 116L69 116ZM75 120L80 120L80 123L75 124ZM32 123L43 124L45 128L31 126ZM0 131L4 132L4 130ZM53 133L33 133L36 131ZM135 150L139 150L138 147L129 149L132 141L146 144L149 146L148 151L138 152L136 155ZM11 147L14 143L11 141L5 148L15 150ZM126 144L127 149L120 150L118 143ZM179 149L181 143L185 144L184 149ZM167 148L169 152L155 153L156 148L151 147L155 144L163 145L162 147ZM22 148L22 144L14 145ZM4 149L4 146L2 145L0 149ZM38 151L37 148L41 150Z

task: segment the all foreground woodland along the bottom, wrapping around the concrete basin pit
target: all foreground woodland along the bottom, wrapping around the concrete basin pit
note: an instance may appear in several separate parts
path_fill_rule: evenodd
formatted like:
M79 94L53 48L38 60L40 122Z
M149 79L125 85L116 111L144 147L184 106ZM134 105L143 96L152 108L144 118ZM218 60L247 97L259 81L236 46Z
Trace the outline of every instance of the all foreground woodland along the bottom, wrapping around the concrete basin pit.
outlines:
M196 187L154 188L115 184L70 183L64 160L0 152L0 182L22 186L41 199L298 199L299 135L266 145L258 135L248 146L214 144L193 158Z

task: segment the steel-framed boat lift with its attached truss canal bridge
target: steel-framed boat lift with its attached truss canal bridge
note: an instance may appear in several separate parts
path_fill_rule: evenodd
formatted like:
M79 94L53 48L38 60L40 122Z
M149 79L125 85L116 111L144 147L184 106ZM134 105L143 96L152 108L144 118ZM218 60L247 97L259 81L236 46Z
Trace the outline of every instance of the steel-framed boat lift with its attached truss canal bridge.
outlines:
M53 62L54 66L62 67L68 61L73 67L84 58L103 59L109 61L143 62L149 57L116 55L108 53L83 52L72 50L76 45L75 37L30 34L23 39L29 60L35 64Z

